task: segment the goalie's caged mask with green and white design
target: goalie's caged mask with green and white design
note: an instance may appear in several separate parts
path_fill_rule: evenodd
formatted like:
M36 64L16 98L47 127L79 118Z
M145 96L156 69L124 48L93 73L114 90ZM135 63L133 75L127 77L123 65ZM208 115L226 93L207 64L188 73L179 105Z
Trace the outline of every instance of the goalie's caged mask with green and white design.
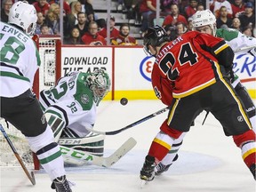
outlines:
M86 83L88 84L90 90L93 94L93 99L97 106L100 103L110 89L110 79L105 70L96 69L91 75L87 76Z

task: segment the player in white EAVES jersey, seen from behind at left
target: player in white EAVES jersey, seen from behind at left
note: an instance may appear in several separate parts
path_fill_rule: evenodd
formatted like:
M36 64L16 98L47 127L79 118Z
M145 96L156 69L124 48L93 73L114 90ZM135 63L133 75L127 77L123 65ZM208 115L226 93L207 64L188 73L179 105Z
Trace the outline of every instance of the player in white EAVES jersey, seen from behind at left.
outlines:
M26 136L31 150L52 180L52 189L71 192L59 145L54 141L35 94L31 92L40 66L36 45L30 38L36 20L33 5L17 2L10 9L9 24L1 22L1 117Z

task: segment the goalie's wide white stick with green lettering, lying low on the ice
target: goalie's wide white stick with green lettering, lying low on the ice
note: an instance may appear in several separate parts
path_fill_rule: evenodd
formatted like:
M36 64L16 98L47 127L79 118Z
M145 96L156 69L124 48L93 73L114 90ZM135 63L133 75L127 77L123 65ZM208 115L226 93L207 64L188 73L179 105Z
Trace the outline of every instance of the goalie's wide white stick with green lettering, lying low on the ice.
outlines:
M62 153L65 162L71 164L94 164L103 167L110 167L112 164L116 164L120 158L128 153L135 145L136 140L132 137L124 142L124 144L118 148L111 156L94 156L89 152L76 150L74 148L67 148L60 145L60 152Z

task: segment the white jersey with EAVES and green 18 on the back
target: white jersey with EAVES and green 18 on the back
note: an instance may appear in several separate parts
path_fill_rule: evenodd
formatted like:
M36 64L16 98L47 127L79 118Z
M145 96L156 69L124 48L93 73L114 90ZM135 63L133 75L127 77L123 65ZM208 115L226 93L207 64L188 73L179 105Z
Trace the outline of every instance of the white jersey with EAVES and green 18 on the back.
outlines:
M10 98L32 87L40 59L28 35L4 22L0 26L0 96Z

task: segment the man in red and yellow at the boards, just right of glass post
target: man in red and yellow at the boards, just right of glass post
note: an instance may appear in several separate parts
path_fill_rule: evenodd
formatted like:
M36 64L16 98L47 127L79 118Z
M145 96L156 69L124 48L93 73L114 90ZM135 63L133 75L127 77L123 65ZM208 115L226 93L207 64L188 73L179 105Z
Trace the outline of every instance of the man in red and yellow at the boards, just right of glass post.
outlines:
M137 40L129 36L130 35L130 26L127 23L123 23L119 29L119 36L112 39L111 44L113 45L138 45Z

